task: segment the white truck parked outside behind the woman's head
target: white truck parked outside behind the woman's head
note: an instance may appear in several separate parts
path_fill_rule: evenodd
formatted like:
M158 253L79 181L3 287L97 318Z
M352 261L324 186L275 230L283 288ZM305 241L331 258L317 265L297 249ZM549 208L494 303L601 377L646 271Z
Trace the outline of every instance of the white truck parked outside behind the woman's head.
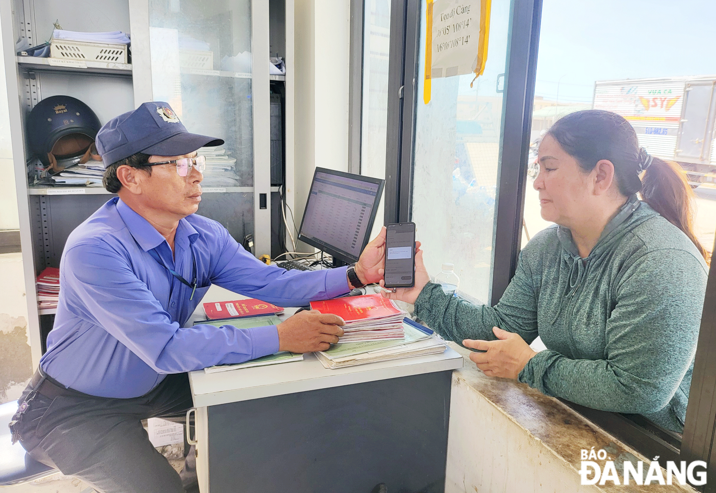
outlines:
M596 81L594 109L634 126L649 154L682 165L690 184L716 182L716 76Z

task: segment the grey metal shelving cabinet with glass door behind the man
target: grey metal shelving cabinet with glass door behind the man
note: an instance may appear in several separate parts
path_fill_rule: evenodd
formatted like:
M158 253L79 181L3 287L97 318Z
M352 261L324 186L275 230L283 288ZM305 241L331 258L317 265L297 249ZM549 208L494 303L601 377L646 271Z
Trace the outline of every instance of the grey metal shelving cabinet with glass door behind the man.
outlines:
M189 131L224 138L226 149L238 159L238 186L204 186L205 195L198 214L221 222L239 242L246 234L253 234L254 253L258 255L271 253L281 242L278 237L281 229L279 186L271 186L269 169L269 88L274 87L272 84L280 84L285 98L284 177L291 180L284 181L288 184L284 196L289 206L294 205L294 95L293 74L290 73L294 0L182 0L166 3L97 0L89 4L84 0L66 0L42 2L42 9L35 9L36 1L39 6L39 0L11 0L0 5L8 94L19 96L18 99L9 97L11 146L19 197L29 336L35 366L44 352L44 339L52 329L55 313L54 309L38 309L35 278L44 267L59 267L69 233L112 196L98 186L29 185L26 161L30 156L24 122L42 99L54 95L75 97L92 108L102 124L145 101L168 101ZM266 9L267 3L269 9ZM16 41L26 39L29 46L42 43L52 34L56 19L69 30L130 33L132 63L16 55ZM196 29L200 25L205 25L203 31ZM193 39L205 36L201 41L210 45L214 69L218 68L223 56L251 51L251 74L180 66L184 62L180 61L176 46L172 47L172 36L173 42L177 36ZM289 73L268 74L269 53L283 56ZM165 54L176 56L168 59ZM11 77L13 73L15 78ZM266 200L266 209L259 207L260 194L270 197Z

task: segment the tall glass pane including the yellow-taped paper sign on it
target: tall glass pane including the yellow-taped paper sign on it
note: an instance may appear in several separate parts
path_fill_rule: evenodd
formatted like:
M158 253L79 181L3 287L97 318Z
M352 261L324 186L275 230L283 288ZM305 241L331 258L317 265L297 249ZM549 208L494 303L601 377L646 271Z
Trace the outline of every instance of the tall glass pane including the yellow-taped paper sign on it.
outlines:
M509 0L422 0L412 221L427 271L455 264L460 295L481 303L490 294L510 15Z

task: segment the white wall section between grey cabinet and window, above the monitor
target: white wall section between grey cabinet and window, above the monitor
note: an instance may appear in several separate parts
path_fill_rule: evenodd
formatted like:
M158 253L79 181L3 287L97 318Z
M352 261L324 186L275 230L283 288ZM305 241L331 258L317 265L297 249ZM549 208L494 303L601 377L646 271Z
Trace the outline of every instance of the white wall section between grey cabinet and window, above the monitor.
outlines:
M348 171L350 0L296 0L295 28L298 228L316 166Z

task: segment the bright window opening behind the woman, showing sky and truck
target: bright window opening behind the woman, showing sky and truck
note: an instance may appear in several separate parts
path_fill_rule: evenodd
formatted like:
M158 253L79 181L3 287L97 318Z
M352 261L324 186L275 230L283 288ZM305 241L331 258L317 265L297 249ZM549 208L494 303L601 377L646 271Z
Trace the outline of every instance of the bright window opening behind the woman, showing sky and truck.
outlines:
M611 5L611 6L609 6ZM716 45L710 0L632 1L544 0L531 142L536 158L541 135L561 116L582 109L606 109L634 126L650 154L679 162L696 193L695 232L703 246L714 246L716 221L716 65L708 56ZM594 36L608 26L619 36ZM678 33L658 49L644 39L656 32ZM695 50L694 47L699 49ZM693 96L692 96L693 95ZM695 111L692 118L690 111ZM687 115L687 112L690 114ZM698 119L698 124L688 126ZM689 147L690 142L697 149ZM535 168L526 187L523 246L551 223L541 218Z

